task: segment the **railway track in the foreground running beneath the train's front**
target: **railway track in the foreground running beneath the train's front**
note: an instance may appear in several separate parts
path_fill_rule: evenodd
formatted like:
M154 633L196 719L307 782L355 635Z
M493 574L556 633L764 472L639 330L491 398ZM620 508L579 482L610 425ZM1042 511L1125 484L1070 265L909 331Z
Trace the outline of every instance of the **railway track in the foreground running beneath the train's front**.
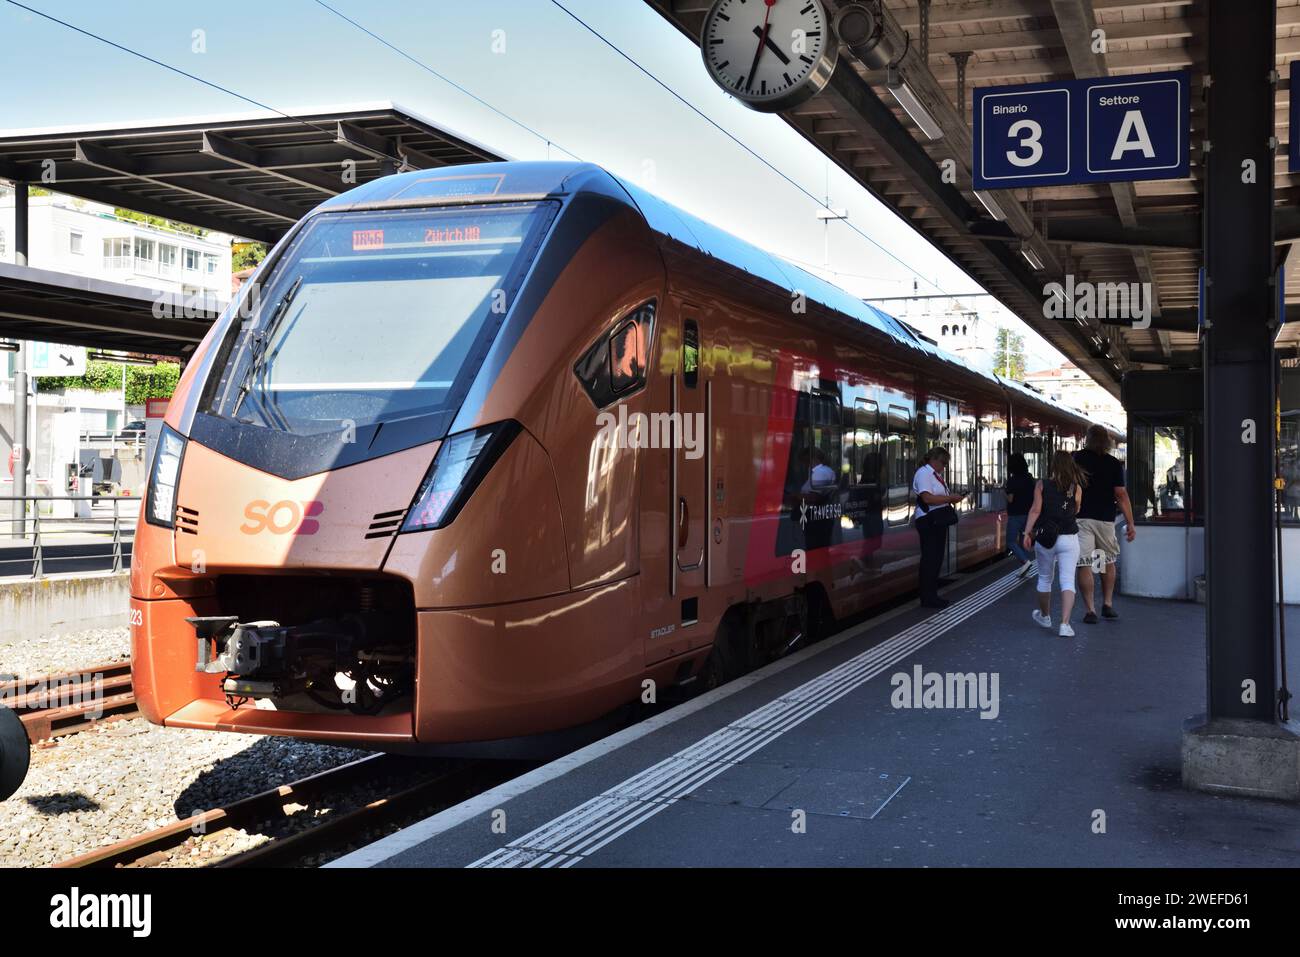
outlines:
M273 835L251 850L208 861L213 867L281 867L304 858L337 850L368 831L425 815L520 772L516 762L429 761L393 754L373 754L309 778L264 791L225 807L203 811L185 820L155 828L109 844L79 857L56 863L78 867L151 867L168 862L186 845L212 840L231 828L260 830ZM389 781L391 791L382 797L335 807L341 794L359 787ZM326 811L316 818L318 811ZM316 819L311 826L294 820ZM280 833L277 833L280 832Z

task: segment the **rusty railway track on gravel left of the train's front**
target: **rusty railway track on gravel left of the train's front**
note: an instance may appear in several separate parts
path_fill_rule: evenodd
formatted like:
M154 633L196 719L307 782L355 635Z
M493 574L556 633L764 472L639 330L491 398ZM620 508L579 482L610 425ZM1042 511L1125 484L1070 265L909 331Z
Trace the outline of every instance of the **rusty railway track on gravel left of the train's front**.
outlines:
M31 744L139 714L129 661L0 683L0 705L18 713Z

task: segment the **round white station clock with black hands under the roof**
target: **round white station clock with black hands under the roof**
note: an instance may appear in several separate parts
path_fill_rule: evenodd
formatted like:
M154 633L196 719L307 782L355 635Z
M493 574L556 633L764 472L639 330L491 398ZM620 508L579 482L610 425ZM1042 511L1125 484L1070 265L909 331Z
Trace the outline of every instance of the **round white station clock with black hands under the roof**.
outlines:
M714 82L763 112L820 92L838 55L820 0L716 0L699 48Z

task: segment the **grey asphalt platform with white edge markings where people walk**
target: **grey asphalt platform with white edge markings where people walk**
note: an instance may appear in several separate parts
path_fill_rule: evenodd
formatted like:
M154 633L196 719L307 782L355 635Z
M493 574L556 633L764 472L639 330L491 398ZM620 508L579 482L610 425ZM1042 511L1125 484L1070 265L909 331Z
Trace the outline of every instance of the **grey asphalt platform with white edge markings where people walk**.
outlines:
M1071 640L1031 622L1034 584L1006 563L948 597L939 614L913 603L868 620L333 866L1300 865L1295 805L1179 784L1182 723L1204 706L1202 606L1119 599L1119 622L1075 612ZM997 675L996 716L894 707L894 676L918 666L985 672L989 697Z

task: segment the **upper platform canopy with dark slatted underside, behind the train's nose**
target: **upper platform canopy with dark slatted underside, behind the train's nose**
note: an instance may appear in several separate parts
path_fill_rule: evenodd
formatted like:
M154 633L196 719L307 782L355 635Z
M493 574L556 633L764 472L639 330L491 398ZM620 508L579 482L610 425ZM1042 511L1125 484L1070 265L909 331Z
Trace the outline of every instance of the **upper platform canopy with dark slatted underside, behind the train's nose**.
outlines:
M0 130L0 178L263 242L376 177L499 159L391 103Z

